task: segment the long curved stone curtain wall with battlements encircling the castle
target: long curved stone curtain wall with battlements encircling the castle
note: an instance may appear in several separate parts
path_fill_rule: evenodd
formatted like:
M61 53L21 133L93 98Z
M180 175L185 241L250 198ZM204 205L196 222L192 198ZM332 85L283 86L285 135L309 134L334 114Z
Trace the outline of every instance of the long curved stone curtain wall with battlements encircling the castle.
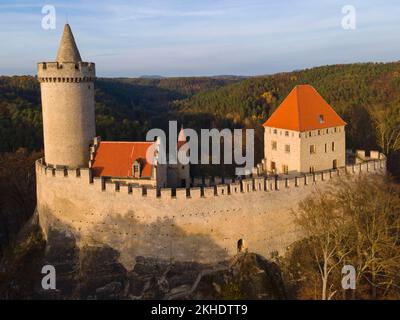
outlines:
M243 239L252 252L284 253L299 238L291 209L341 175L384 173L385 159L288 179L257 177L190 189L135 188L92 178L90 169L55 169L38 160L37 209L47 237L109 246L131 268L136 256L216 262Z

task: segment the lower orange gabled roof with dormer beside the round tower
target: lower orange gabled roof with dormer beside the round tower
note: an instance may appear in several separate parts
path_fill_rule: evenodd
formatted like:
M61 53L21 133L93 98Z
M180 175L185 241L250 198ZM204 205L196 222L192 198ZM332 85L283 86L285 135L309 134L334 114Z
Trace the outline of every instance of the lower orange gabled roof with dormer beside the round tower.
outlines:
M135 160L143 159L142 177L150 178L152 164L146 161L147 149L154 142L101 141L92 165L93 175L107 177L132 177Z

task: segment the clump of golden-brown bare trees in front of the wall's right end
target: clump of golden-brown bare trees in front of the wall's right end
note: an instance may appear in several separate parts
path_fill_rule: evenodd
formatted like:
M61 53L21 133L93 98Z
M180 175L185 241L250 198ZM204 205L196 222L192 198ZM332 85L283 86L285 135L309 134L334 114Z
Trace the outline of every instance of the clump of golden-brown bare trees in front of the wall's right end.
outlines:
M353 296L400 296L399 185L382 176L343 178L305 199L295 214L305 236L301 252L311 252L313 261L304 268L318 270L321 299L336 297L344 264L357 272Z

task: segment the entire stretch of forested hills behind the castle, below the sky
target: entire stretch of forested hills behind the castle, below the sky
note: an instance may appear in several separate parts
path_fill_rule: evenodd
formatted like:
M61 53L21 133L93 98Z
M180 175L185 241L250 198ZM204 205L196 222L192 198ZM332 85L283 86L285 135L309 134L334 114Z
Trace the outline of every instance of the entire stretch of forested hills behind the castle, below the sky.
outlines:
M115 78L96 81L96 126L103 139L143 139L167 120L187 127L258 128L296 84L311 84L346 120L347 146L400 146L400 63L317 67L251 77ZM42 148L39 85L34 77L0 77L0 152ZM396 133L396 132L395 132ZM395 135L396 136L396 135ZM400 139L400 138L399 138ZM256 154L260 154L256 150Z

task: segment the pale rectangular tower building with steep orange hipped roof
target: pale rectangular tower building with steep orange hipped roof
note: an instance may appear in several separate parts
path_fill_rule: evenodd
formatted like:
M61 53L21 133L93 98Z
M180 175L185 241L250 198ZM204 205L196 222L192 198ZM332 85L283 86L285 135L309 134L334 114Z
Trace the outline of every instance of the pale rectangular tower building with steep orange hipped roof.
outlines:
M266 171L308 173L344 166L345 125L312 86L296 86L264 123Z

